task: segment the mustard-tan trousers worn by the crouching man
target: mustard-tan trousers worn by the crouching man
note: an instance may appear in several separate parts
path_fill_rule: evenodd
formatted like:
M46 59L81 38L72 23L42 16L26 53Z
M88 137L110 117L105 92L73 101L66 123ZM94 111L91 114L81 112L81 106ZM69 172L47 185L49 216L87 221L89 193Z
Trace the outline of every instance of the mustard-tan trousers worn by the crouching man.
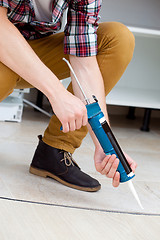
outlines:
M121 78L134 51L134 36L123 24L110 22L101 23L98 31L97 60L104 79L106 95ZM64 61L63 33L58 33L28 43L51 71L59 78L69 77L69 68ZM44 79L45 81L45 79ZM0 101L6 98L14 88L32 87L4 64L0 63ZM68 87L72 92L72 86ZM62 96L63 97L63 96ZM69 151L71 153L80 146L87 134L87 128L82 127L74 132L60 131L60 122L54 115L45 130L43 141L50 146Z

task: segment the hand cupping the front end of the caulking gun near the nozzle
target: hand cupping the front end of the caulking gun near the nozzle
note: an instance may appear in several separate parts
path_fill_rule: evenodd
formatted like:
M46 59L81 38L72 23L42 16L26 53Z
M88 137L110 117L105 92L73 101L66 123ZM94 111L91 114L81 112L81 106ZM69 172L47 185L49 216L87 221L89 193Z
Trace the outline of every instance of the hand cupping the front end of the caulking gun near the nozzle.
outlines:
M124 153L131 169L135 172L137 163L128 154ZM95 167L102 175L112 178L113 187L118 187L120 184L120 173L117 171L119 159L115 154L106 155L103 149L96 149L94 154Z

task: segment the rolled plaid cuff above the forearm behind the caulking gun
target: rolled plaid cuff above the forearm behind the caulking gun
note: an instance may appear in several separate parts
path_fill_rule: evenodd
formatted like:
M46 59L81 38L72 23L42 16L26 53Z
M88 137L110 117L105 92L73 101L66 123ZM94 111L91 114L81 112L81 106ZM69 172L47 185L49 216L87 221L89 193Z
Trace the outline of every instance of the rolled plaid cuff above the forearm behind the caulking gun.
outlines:
M77 57L97 55L97 34L65 36L64 54Z

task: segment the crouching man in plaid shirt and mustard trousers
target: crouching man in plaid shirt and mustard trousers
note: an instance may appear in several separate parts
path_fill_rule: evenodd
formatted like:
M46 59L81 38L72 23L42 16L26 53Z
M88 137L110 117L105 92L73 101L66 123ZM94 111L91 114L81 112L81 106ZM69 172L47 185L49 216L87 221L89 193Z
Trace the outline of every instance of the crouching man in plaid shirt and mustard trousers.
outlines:
M44 136L39 136L30 172L84 191L100 189L100 183L82 172L72 158L87 128L95 144L96 170L112 178L115 187L119 160L104 154L88 126L73 76L67 90L59 81L70 76L62 58L69 59L79 81L90 86L108 120L105 96L122 76L134 50L134 37L124 25L111 22L98 27L101 2L0 0L0 100L14 88L34 86L48 97L55 113ZM65 9L65 31L57 33ZM136 163L126 157L135 171Z

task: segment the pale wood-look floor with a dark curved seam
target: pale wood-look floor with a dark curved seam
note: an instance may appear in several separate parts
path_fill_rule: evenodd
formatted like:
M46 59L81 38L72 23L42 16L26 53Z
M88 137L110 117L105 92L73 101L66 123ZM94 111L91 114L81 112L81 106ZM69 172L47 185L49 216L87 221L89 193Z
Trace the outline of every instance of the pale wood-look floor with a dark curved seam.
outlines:
M160 239L160 127L139 131L141 119L111 117L123 149L138 163L133 180L141 210L127 184L113 188L95 171L94 146L87 135L74 158L102 189L86 193L28 172L38 134L49 119L28 108L21 123L0 122L0 239Z

